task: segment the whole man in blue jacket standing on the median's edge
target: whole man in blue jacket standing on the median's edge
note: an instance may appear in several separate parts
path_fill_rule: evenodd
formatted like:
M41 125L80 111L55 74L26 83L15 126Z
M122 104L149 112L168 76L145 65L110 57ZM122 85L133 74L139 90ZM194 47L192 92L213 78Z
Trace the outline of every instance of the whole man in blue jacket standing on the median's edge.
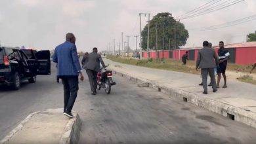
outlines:
M83 74L77 56L75 36L73 33L66 34L66 41L56 46L53 62L57 63L57 75L62 79L64 87L64 112L63 114L74 118L72 108L78 91L78 77L83 81Z

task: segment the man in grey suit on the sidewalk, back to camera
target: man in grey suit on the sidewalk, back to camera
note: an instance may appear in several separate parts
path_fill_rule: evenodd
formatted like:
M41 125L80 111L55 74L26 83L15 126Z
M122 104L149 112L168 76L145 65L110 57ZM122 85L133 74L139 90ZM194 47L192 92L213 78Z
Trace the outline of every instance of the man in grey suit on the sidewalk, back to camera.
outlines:
M201 68L202 81L203 81L203 94L207 92L207 76L208 73L211 77L211 85L213 92L217 92L216 80L214 75L214 69L219 66L218 57L215 54L213 48L209 48L208 41L203 41L203 48L198 52L198 59L196 60L196 71Z

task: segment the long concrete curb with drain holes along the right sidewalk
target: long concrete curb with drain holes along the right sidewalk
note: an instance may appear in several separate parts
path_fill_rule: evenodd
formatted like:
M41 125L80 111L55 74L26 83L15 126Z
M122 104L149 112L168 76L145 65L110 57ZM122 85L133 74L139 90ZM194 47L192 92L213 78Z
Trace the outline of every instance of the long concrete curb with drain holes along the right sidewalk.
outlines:
M211 98L203 98L202 96L198 96L195 93L186 92L184 90L179 90L177 88L167 87L164 84L160 84L158 82L150 81L148 79L144 79L142 77L134 77L129 73L123 73L120 71L116 71L116 69L112 69L114 73L117 75L129 79L133 82L140 83L148 83L148 87L154 88L159 92L163 92L172 96L174 98L183 99L186 102L193 103L199 107L203 107L209 111L217 113L219 115L223 115L224 117L228 117L232 120L236 120L238 122L242 122L247 124L248 126L252 126L256 128L256 113L251 111L247 111L246 109L242 109L240 107L234 107L227 103L223 103L222 101L218 101L216 99Z

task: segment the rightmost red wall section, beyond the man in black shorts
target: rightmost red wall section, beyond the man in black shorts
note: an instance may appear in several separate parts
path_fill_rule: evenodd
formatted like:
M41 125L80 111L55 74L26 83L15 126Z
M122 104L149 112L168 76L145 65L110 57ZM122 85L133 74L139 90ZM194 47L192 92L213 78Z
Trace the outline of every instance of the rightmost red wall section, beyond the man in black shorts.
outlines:
M252 64L256 62L256 47L236 48L236 63Z

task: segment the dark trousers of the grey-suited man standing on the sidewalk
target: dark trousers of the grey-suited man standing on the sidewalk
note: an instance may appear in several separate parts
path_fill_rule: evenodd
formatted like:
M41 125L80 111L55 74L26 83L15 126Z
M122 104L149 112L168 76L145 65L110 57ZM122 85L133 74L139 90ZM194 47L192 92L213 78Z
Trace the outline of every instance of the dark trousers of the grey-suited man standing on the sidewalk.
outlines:
M216 80L215 80L215 75L214 75L214 68L205 68L201 69L202 73L202 81L203 81L203 90L204 92L207 92L207 76L209 73L209 76L211 77L211 86L213 90L216 89Z

